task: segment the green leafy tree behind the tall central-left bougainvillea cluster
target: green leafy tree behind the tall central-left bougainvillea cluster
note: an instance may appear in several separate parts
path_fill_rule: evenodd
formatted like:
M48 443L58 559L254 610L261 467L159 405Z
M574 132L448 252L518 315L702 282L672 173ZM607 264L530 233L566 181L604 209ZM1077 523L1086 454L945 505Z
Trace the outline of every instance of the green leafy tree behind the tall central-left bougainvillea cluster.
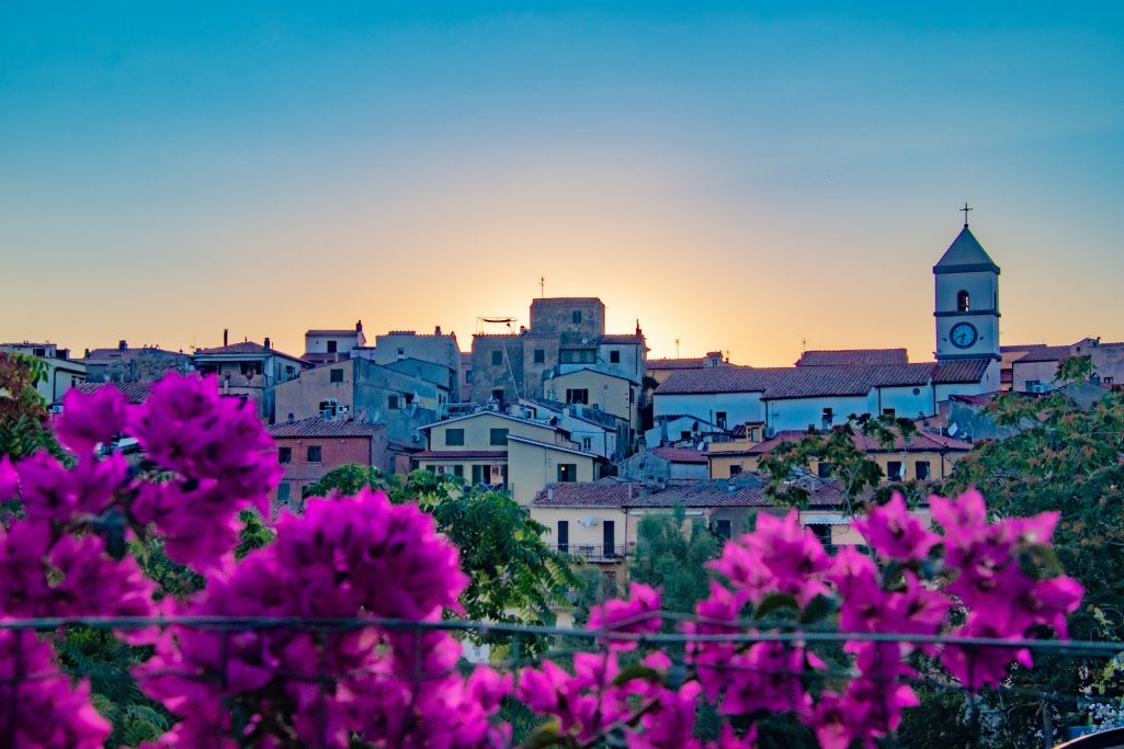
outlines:
M332 469L303 494L351 496L364 487L386 491L395 504L416 504L461 550L470 578L461 603L469 619L553 624L552 607L569 605L566 594L581 587L571 570L574 560L543 540L550 532L545 525L509 495L470 487L455 476L396 476L350 464Z

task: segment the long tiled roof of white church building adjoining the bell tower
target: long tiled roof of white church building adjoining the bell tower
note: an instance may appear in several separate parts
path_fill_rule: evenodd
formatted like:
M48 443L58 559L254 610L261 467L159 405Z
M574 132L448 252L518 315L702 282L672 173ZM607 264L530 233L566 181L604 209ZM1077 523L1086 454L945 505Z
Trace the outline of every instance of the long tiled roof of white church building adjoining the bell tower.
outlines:
M656 395L760 392L763 399L864 396L876 387L978 382L988 359L868 367L716 367L676 372Z

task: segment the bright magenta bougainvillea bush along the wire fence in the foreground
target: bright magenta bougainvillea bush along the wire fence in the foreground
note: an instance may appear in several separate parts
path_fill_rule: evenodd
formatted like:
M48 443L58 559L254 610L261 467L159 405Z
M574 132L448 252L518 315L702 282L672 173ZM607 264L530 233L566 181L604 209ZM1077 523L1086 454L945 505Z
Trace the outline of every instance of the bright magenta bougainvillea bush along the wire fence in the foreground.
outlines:
M964 688L997 685L1012 662L1032 665L1018 641L1066 635L1081 596L1052 562L1054 515L991 521L976 493L932 497L937 533L896 497L858 523L873 556L830 556L795 513L762 514L711 562L722 581L668 650L660 592L633 585L592 610L588 652L470 668L437 626L466 585L457 550L415 506L370 490L312 499L235 561L238 514L266 513L280 471L253 410L214 379L170 376L140 406L111 387L72 394L57 434L72 464L0 462L0 502L17 507L0 527L0 619L109 617L147 646L134 673L178 718L160 747L500 747L513 701L542 719L536 746L751 747L755 722L783 713L823 747L871 747L916 704L917 658ZM120 434L139 442L139 464L100 448ZM161 595L128 551L137 542L162 543L206 585ZM133 617L169 622L125 626ZM356 619L370 625L338 625ZM852 637L817 650L825 628ZM0 629L6 746L109 736L90 685L60 670L66 631ZM704 701L725 721L705 745Z

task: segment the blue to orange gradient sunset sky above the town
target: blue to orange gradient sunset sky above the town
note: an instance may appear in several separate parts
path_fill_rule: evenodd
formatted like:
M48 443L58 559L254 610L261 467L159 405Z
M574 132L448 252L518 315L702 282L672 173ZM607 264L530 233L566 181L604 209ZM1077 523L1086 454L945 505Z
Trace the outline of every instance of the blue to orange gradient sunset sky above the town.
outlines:
M964 200L1005 343L1124 340L1122 2L167 4L0 4L0 341L468 350L542 274L927 360Z

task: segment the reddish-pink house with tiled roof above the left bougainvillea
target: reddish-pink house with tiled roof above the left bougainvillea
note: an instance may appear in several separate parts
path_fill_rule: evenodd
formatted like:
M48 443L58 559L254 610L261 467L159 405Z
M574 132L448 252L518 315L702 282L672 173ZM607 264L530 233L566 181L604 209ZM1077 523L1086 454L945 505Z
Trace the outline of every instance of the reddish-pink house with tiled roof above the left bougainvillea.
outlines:
M333 468L352 463L387 472L395 468L383 424L312 417L266 428L284 469L270 497L274 514L280 508L301 509L305 487L319 481Z

